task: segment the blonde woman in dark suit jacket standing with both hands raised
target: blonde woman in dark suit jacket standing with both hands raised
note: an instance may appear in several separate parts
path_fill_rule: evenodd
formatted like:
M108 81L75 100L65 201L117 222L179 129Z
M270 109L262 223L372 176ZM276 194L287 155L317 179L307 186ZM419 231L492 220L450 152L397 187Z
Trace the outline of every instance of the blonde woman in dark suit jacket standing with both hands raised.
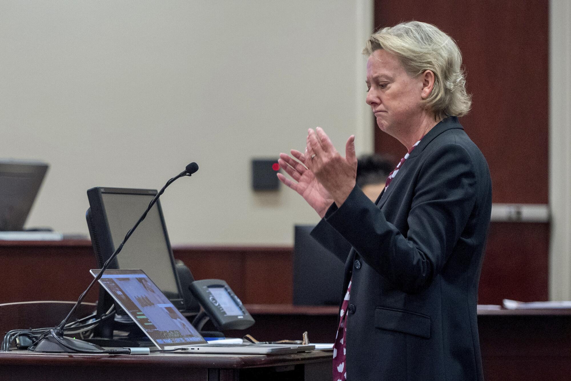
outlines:
M482 380L478 281L492 207L488 165L457 117L468 113L461 54L437 27L407 22L371 35L367 103L408 153L373 203L345 157L309 130L298 161L280 154L321 216L312 236L345 262L333 380ZM303 164L302 164L303 163Z

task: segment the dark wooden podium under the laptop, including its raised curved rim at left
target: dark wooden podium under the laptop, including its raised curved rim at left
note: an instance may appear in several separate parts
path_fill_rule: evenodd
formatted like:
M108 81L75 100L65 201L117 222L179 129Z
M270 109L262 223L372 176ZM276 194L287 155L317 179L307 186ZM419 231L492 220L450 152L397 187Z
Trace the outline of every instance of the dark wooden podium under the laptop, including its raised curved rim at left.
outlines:
M74 302L0 304L0 334L17 328L54 327ZM83 303L79 316L94 303ZM268 327L270 328L270 327ZM243 331L238 332L241 337ZM280 355L187 354L150 355L46 354L0 352L0 380L300 380L331 381L332 351Z

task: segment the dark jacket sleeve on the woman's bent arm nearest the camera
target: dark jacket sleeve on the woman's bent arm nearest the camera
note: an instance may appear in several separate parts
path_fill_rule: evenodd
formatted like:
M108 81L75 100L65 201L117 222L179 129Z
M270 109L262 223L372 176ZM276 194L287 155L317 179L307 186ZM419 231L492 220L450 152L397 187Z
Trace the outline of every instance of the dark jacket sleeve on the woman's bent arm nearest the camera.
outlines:
M325 217L369 266L405 292L419 292L442 270L476 202L476 174L463 147L450 143L425 155L406 211L406 236L358 187Z

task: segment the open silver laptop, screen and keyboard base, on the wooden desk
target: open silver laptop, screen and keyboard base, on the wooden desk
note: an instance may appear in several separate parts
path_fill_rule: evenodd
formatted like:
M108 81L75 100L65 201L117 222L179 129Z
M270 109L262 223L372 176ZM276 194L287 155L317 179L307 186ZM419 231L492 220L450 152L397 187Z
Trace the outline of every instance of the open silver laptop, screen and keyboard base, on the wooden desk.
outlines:
M93 276L100 270L90 270ZM143 270L106 270L101 286L160 349L194 353L283 354L306 352L313 345L208 343L156 287Z

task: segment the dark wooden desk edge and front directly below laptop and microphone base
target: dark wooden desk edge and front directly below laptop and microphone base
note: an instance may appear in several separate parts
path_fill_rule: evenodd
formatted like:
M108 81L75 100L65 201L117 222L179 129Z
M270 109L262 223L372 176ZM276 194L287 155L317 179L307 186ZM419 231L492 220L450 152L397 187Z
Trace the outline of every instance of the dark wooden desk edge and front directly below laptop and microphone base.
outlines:
M331 381L332 352L288 355L0 352L1 380Z

